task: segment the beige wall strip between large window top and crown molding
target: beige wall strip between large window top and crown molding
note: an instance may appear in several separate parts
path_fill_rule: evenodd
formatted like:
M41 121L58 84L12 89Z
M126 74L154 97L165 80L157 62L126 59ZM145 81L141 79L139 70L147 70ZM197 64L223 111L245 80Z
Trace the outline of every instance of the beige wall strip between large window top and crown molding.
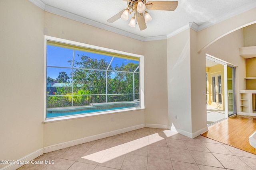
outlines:
M144 42L45 12L44 34L143 55Z

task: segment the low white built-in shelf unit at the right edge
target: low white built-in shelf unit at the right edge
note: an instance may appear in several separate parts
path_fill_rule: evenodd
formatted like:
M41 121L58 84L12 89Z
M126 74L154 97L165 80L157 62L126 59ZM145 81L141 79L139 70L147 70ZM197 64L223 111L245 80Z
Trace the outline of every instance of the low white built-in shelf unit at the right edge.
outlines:
M253 109L255 109L255 94L256 90L239 90L240 109L238 109L238 114L256 116L256 113L253 113Z

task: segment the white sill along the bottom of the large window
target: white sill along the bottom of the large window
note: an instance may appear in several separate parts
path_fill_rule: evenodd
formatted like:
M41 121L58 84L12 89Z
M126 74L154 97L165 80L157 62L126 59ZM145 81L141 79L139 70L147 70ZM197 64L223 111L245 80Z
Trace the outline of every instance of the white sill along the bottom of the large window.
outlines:
M134 107L130 109L120 109L120 110L111 110L111 111L104 111L98 113L89 113L89 114L80 114L80 115L72 115L72 116L65 116L65 117L56 117L56 118L49 118L42 121L42 123L52 123L57 121L65 121L65 120L72 120L72 119L81 119L85 117L92 117L92 116L99 116L99 115L106 115L106 114L114 114L126 111L136 111L136 110L144 110L145 108L142 107Z

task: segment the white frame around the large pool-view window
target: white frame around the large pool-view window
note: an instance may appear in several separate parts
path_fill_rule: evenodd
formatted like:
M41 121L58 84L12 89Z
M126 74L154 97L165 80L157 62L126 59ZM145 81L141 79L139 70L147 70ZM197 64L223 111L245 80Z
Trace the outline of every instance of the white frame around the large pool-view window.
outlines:
M71 44L71 45L76 45L76 46L81 46L85 48L90 48L90 49L96 49L100 51L105 51L105 52L110 52L110 53L116 53L116 54L121 54L121 55L127 55L127 56L132 56L132 57L138 57L140 59L140 107L132 107L128 109L121 109L121 110L111 110L111 111L102 111L102 112L97 112L97 113L90 113L90 114L80 114L80 115L70 115L70 116L65 116L65 117L53 117L53 118L47 118L46 119L46 77L47 77L47 61L46 61L46 54L47 54L47 41L56 41L60 43L66 43L66 44ZM52 122L52 121L62 121L65 119L77 119L79 117L88 117L88 116L95 116L95 115L103 115L103 114L108 114L108 113L118 113L118 112L125 112L125 111L135 111L138 109L145 109L145 102L144 102L144 56L143 55L138 55L138 54L133 54L133 53L127 53L124 51L118 51L114 49L108 49L104 47L99 47L95 45L90 45L90 44L85 44L85 43L79 43L76 41L70 41L66 39L60 39L56 37L51 37L48 35L45 35L44 38L44 122Z

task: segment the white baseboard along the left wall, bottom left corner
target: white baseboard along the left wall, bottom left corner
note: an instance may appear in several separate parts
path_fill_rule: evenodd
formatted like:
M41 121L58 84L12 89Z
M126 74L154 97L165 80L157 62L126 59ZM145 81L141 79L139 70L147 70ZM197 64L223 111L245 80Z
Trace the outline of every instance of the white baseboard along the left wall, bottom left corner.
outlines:
M38 156L42 155L43 153L44 153L44 149L38 149L35 152L32 152L32 153L24 156L23 158L18 159L18 161L21 161L21 162L31 161L31 160L37 158ZM5 166L1 170L16 170L23 165L24 164L20 164L20 165L19 164L9 164L8 166Z

